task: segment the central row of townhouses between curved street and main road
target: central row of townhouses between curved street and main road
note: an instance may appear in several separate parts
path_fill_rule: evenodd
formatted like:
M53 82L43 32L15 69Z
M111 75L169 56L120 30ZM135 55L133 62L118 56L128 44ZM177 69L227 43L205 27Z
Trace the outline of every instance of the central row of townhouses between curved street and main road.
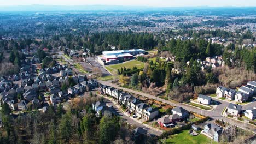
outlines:
M119 103L125 105L131 113L135 113L136 116L144 118L147 121L154 119L159 114L158 109L152 108L149 105L142 103L133 95L122 92L119 89L101 85L101 91L104 94L108 94L116 98Z

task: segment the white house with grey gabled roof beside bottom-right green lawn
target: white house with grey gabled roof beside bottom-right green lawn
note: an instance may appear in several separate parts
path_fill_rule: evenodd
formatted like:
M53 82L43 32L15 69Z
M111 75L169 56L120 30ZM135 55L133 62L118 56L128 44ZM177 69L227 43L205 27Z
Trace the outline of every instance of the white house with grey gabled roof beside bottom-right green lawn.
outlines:
M206 124L203 127L203 134L211 137L214 141L219 141L219 137L222 134L222 127L216 124Z

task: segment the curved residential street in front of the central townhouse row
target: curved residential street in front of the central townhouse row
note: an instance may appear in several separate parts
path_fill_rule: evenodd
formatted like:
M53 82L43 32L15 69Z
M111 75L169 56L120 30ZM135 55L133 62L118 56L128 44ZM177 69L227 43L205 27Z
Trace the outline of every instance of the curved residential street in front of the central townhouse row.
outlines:
M138 123L136 122L135 120L133 120L131 117L128 117L126 115L124 115L124 113L122 113L117 106L114 105L114 103L108 99L104 99L104 101L109 104L109 105L112 105L113 106L113 109L115 111L115 113L117 113L117 115L121 116L126 122L132 124L132 125L135 125L136 127L141 127L141 128L145 128L148 130L148 133L150 134L154 134L154 135L161 135L162 133L160 131L156 131L156 130L153 130L153 129L150 129L148 127L146 127L145 125L141 124L141 123Z

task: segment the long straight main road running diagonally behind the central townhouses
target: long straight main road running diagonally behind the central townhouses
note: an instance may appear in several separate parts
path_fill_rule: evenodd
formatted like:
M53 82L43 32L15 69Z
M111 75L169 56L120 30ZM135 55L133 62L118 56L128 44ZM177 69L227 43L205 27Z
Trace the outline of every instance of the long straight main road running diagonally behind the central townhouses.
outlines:
M99 80L99 82L102 83L103 85L108 85L108 86L111 86L111 87L119 88L123 91L139 94L139 95L142 95L142 96L150 98L150 99L156 99L158 101L161 101L163 103L166 103L166 104L169 104L169 105L172 105L172 106L181 106L181 107L183 107L184 109L186 109L190 112L201 113L202 115L210 116L212 119L221 119L225 122L235 124L236 126L238 126L240 128L248 129L248 130L251 130L254 133L256 133L256 127L255 126L243 123L241 121L236 121L235 119L230 119L230 118L222 116L223 109L229 105L229 103L226 102L226 101L214 99L214 100L218 101L219 105L216 107L216 109L214 109L212 111L207 111L207 110L197 109L196 107L181 104L181 103L173 103L172 101L161 99L161 98L155 97L154 95L150 95L150 94L147 94L147 93L138 92L138 91L134 91L132 89L119 87L119 86L115 85L114 83L111 83L111 82L108 82L108 81L100 81ZM252 106L255 106L255 105L256 105L256 102L253 102L249 105L246 105L245 107L252 107Z

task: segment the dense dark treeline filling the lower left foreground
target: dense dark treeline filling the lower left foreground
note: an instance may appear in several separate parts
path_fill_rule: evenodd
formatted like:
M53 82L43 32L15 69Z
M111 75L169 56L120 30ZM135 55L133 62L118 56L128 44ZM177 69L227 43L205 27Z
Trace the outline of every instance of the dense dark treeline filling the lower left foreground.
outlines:
M50 105L46 113L28 111L16 118L4 103L0 143L134 143L131 127L120 117L108 110L96 117L91 107L95 100L100 98L90 94L75 98L67 111L61 104Z

